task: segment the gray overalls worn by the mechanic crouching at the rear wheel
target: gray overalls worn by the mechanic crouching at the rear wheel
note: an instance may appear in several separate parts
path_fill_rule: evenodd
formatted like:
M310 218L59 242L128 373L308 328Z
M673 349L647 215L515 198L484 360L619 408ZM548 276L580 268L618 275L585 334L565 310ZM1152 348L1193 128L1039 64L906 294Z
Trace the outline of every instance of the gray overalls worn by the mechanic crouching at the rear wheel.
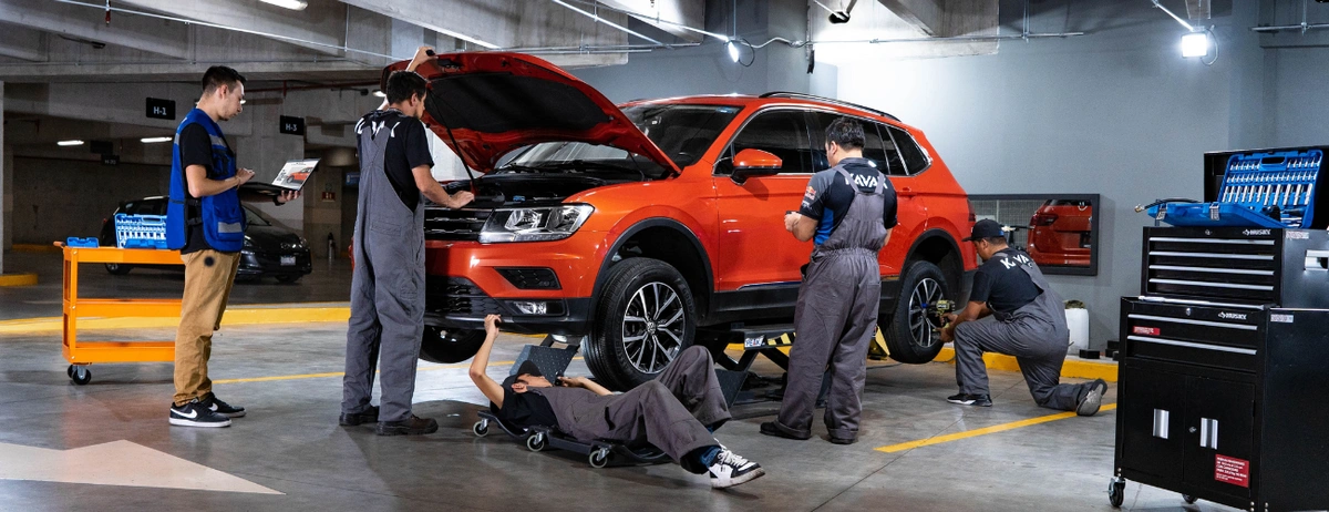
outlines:
M1094 383L1058 384L1071 336L1066 327L1065 302L1029 255L1002 250L993 258L1006 258L1018 266L1043 293L1015 311L993 311L990 317L956 327L956 380L960 392L987 395L983 352L998 352L1015 356L1035 403L1059 411L1074 410Z

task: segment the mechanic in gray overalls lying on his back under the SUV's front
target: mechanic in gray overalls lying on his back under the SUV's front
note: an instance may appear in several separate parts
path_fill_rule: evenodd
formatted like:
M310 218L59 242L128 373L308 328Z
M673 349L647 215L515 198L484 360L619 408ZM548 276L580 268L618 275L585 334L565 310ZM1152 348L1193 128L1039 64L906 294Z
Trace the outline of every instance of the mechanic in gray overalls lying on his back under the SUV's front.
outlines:
M522 428L557 427L582 443L650 443L688 472L710 472L714 488L766 475L760 464L738 456L711 436L730 420L730 411L706 348L694 346L679 352L659 378L623 394L583 376L558 378L556 386L529 360L500 384L485 374L489 351L498 338L498 315L485 318L485 344L470 362L470 380L489 398L490 411L504 423Z

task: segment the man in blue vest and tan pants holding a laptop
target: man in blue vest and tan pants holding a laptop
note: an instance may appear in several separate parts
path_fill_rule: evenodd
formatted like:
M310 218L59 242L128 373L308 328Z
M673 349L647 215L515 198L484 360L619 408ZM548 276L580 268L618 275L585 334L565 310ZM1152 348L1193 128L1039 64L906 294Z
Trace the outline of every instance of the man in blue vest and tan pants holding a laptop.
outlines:
M213 394L207 359L245 245L245 209L238 189L254 172L235 168L235 152L217 125L243 109L245 77L227 66L211 66L203 73L202 86L198 106L175 130L166 209L166 246L179 250L185 261L170 424L229 427L231 418L245 415L245 408ZM298 192L287 192L272 201L280 205L298 197ZM246 199L264 198L254 194Z

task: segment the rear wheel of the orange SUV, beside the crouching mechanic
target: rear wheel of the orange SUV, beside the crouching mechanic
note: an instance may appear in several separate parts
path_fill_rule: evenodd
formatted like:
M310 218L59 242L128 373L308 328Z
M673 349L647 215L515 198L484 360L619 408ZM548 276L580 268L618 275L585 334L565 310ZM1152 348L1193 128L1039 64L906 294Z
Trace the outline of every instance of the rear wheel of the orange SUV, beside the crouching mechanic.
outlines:
M913 262L900 278L900 297L890 317L880 315L877 326L886 339L890 358L901 363L932 362L941 352L941 334L933 331L926 307L937 299L950 298L950 287L941 269L930 262Z

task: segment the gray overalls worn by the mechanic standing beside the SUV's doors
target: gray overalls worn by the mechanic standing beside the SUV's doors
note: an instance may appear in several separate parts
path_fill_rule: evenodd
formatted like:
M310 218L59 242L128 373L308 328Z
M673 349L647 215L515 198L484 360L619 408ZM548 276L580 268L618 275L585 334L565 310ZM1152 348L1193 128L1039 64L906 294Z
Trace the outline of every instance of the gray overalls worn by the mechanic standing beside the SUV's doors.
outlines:
M835 170L853 182L843 166ZM877 253L886 238L882 222L885 180L878 174L872 192L856 190L844 219L812 250L795 306L797 340L789 350L788 382L776 418L785 428L811 434L821 378L829 374L827 430L841 439L859 434L868 346L877 331L877 309L881 307Z

